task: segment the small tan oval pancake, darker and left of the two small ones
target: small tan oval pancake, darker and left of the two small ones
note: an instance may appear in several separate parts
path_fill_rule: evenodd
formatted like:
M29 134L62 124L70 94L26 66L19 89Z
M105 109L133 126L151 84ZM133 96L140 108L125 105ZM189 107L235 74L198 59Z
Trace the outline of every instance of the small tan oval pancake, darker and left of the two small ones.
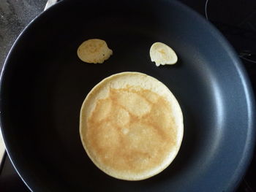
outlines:
M89 39L78 47L78 57L89 64L102 64L112 54L113 51L102 39Z

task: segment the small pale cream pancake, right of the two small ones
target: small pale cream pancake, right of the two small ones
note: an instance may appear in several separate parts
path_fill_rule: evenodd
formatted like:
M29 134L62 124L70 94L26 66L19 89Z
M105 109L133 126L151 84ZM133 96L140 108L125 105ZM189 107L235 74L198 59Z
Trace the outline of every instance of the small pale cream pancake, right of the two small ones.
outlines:
M165 64L172 65L178 61L174 50L162 42L155 42L150 48L149 55L151 61L155 62L157 66Z

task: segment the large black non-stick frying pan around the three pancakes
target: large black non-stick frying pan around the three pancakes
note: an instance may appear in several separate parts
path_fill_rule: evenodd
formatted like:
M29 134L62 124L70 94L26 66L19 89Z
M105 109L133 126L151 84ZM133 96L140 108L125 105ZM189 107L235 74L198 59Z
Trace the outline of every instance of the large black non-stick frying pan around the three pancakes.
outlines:
M78 46L91 38L113 49L105 64L79 60ZM151 63L154 42L173 47L178 64ZM127 71L164 82L184 113L175 161L138 182L97 169L78 131L86 94ZM213 26L176 1L61 1L15 42L0 99L7 152L33 191L233 191L255 142L254 101L240 61Z

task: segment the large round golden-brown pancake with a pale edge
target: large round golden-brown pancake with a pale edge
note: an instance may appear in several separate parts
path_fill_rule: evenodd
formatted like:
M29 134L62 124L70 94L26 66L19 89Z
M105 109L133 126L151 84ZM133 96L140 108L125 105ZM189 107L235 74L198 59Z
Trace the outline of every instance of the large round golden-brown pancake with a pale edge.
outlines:
M91 161L122 180L162 172L176 157L183 116L173 93L139 72L113 74L83 101L80 138Z

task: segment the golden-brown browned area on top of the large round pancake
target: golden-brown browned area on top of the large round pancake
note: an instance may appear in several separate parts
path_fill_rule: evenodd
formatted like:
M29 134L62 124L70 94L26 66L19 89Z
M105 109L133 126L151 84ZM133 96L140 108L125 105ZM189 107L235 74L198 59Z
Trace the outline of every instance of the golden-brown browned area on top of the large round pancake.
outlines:
M87 119L91 156L107 169L142 173L161 165L176 145L170 104L149 90L110 89Z

